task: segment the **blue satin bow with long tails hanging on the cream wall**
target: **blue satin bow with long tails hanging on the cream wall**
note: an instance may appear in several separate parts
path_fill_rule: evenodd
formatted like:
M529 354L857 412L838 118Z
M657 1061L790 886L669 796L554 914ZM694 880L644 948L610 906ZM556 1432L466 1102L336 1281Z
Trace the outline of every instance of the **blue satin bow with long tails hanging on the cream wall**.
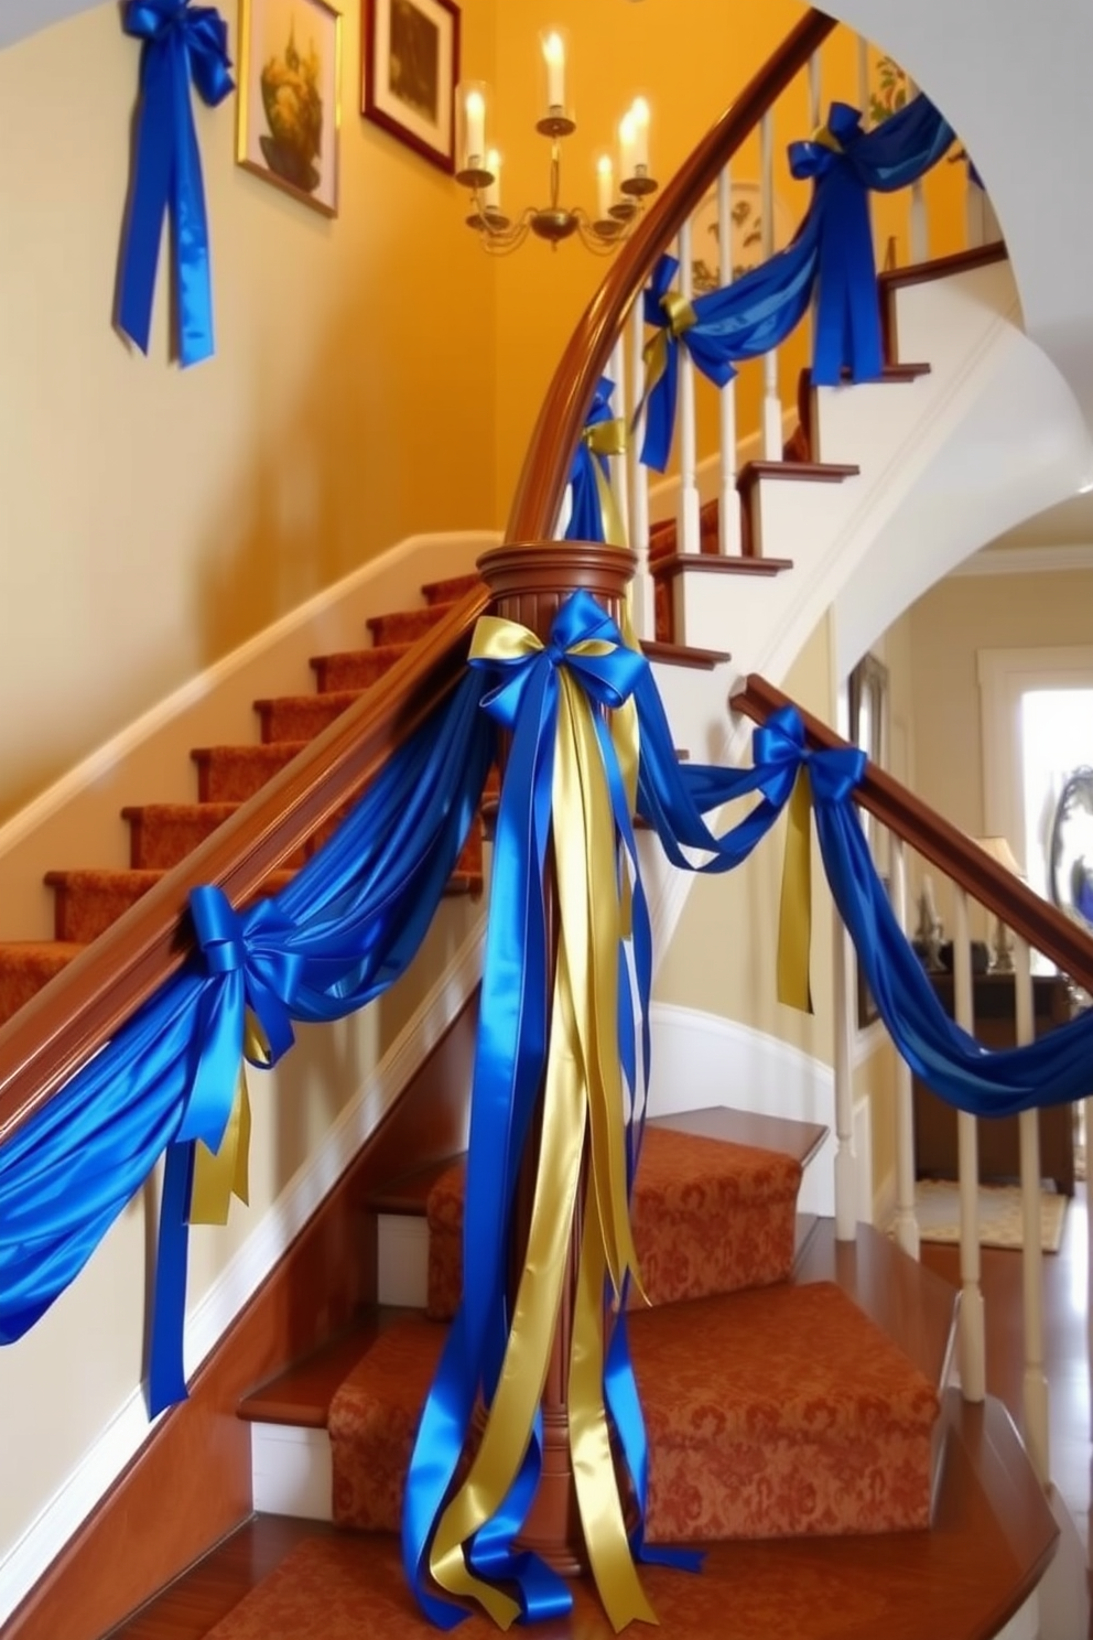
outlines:
M202 154L190 85L211 108L234 89L228 25L190 0L126 0L126 34L141 41L141 102L128 220L121 248L118 323L147 353L164 215L179 303L184 366L211 358L213 290Z

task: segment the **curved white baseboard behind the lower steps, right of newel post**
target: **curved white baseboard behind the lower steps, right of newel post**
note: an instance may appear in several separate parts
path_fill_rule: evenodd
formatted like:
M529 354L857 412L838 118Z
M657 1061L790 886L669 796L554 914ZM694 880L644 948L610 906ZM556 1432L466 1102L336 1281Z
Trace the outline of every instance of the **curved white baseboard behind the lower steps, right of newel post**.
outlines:
M698 1009L654 1002L649 1115L729 1104L823 1122L828 1138L801 1181L801 1212L834 1214L834 1071L790 1043Z

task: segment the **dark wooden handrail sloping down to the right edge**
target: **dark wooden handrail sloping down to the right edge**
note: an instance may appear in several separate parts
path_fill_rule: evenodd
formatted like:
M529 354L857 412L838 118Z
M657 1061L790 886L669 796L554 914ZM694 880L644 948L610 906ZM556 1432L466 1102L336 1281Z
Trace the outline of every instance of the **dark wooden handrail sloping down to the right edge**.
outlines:
M765 723L778 707L796 702L752 672L731 705L755 723ZM805 723L805 738L816 749L846 746L834 730L796 707ZM1064 974L1093 991L1093 938L1065 917L1049 900L1034 894L1019 877L991 859L978 843L929 809L906 786L895 781L875 763L867 764L865 779L855 792L857 802L901 836L913 850L959 882L962 889L1049 956Z

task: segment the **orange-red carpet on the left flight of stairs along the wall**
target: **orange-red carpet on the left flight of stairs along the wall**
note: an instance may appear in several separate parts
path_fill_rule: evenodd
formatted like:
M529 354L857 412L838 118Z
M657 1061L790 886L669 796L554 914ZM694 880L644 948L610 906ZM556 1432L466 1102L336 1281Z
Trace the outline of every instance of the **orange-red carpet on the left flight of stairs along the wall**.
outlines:
M311 661L316 692L256 700L261 740L251 746L200 746L192 753L197 802L141 804L123 809L129 827L126 869L57 869L46 874L54 892L54 938L0 941L0 1023L66 968L92 940L125 915L159 877L177 866L228 820L239 804L292 763L297 753L370 689L410 645L433 626L472 585L477 576L452 577L423 587L424 605L374 617L367 625L370 649L318 656ZM329 836L331 822L306 850L267 877L262 894L287 886L306 854ZM449 882L449 892L482 887L482 831L475 827Z

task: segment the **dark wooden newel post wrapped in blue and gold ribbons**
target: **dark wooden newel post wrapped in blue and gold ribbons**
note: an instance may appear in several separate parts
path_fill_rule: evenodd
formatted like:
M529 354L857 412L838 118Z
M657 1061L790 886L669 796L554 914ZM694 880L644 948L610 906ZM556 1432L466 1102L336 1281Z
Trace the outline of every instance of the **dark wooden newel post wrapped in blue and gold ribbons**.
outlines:
M546 643L559 608L578 589L592 592L608 615L621 622L626 587L634 574L634 554L616 546L587 541L533 541L521 546L493 548L478 559L478 571L493 594L492 613L519 622ZM501 748L501 777L505 776L505 756L506 748ZM544 905L547 940L554 950L557 945L557 895L552 854L547 856ZM547 979L552 987L552 961ZM539 1132L539 1118L536 1118L516 1187L510 1243L510 1289L513 1292L524 1264L531 1225ZM583 1194L585 1182L582 1181L582 1204ZM565 1576L577 1576L588 1568L569 1445L567 1396L582 1225L583 1205L578 1204L574 1215L551 1366L542 1394L542 1478L519 1538L524 1548L534 1550L549 1566Z

